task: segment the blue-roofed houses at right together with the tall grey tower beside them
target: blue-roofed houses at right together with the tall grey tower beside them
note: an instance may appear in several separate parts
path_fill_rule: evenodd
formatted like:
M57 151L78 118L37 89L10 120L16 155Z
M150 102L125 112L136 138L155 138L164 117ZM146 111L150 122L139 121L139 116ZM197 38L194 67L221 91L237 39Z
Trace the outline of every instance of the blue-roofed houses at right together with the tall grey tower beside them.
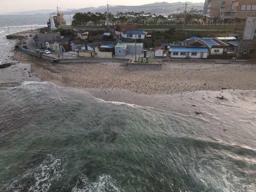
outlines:
M170 58L248 58L248 55L256 53L256 15L247 16L242 36L230 34L228 37L191 37L180 44L169 44L167 49ZM166 50L166 45L158 48L160 50Z

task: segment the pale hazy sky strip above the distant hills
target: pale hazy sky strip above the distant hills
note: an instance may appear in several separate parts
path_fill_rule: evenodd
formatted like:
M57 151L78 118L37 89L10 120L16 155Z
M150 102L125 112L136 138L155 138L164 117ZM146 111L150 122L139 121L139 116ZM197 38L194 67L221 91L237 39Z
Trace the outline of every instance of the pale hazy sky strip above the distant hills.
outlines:
M167 3L175 3L175 2L185 2L185 0L130 0L130 1L120 1L120 0L94 0L94 1L86 1L86 0L74 0L74 1L63 1L63 0L44 0L44 1L35 1L35 0L0 0L0 14L11 13L11 12L22 12L22 11L33 11L33 10L41 10L41 9L51 9L55 10L57 5L61 8L61 11L65 11L66 9L80 9L86 7L99 7L109 5L125 5L125 6L136 6L136 5L144 5L155 2L167 2ZM125 2L125 3L124 3ZM187 2L192 3L204 3L204 0L187 0Z

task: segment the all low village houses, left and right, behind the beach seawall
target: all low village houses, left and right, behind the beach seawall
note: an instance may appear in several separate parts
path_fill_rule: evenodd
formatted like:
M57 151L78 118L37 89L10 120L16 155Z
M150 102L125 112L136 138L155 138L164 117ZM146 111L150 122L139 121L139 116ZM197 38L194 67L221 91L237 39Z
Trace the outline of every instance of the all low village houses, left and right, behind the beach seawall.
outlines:
M117 24L114 33L124 42L100 41L88 44L89 32L86 30L77 30L76 37L62 37L59 32L49 30L37 33L33 39L38 48L56 52L77 51L80 57L113 58L142 54L144 46L139 39L150 38L144 30L137 30L137 24ZM110 31L105 31L104 35L110 35ZM155 47L154 53L155 57L197 59L234 59L239 55L255 54L256 15L247 17L243 36L230 34L228 37L191 37L180 43Z

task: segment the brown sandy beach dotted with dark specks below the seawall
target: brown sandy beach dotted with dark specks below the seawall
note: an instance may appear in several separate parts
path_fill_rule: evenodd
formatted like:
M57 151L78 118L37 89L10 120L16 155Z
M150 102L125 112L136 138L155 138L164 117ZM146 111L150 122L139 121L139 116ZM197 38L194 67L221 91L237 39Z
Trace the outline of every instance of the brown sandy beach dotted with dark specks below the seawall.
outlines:
M256 90L256 66L170 63L162 69L129 69L125 63L52 63L22 51L14 59L31 63L31 72L57 86L86 89L105 101L155 105L159 97L194 91Z

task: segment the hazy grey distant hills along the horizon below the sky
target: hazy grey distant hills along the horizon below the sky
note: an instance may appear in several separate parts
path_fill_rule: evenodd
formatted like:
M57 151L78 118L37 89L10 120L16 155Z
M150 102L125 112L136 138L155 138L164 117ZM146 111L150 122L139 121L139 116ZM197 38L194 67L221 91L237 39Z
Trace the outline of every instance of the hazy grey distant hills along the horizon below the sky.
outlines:
M203 1L203 0L202 0ZM187 2L187 11L190 11L191 8L203 10L204 3L191 3ZM152 4L145 4L141 6L109 6L109 12L112 14L116 14L117 11L119 12L150 12L152 14L172 14L177 13L178 9L182 13L185 10L185 3L182 2L176 2L176 3L152 3ZM87 8L81 8L81 9L68 9L68 10L61 10L63 14L75 14L78 12L86 13L86 12L101 12L104 13L105 11L108 11L107 6L100 6L100 7L87 7ZM35 11L23 11L23 12L13 12L13 13L6 13L6 14L56 14L56 10L52 9L43 9L43 10L35 10Z

